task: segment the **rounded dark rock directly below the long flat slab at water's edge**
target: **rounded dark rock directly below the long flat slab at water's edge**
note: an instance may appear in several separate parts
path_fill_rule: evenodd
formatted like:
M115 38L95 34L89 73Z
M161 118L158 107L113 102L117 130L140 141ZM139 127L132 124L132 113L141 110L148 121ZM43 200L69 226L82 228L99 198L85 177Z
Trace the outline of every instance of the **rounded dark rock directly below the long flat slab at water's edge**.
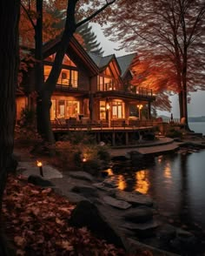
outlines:
M131 208L125 212L123 218L131 222L145 222L153 218L153 211L149 207Z

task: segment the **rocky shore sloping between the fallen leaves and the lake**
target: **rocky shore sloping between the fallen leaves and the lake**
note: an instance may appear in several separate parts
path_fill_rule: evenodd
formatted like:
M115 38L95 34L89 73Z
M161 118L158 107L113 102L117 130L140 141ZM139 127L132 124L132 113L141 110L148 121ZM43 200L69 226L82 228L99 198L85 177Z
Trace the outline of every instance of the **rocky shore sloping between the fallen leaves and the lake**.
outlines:
M202 148L188 142L179 146L182 153ZM127 255L142 251L150 255L200 255L195 253L198 242L192 233L164 223L153 199L119 190L114 177L59 172L50 165L43 165L41 177L34 159L21 158L21 154L18 159L17 173L27 177L30 184L51 187L76 204L70 216L72 226L87 226L97 237L123 247Z

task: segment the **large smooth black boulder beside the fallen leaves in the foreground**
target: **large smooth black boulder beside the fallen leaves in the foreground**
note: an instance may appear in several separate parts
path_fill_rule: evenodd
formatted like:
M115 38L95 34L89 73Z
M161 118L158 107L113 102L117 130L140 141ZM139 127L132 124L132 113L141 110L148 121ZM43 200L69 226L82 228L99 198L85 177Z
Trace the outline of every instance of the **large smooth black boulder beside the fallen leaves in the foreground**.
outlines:
M106 239L111 244L124 247L116 228L111 226L96 205L89 201L81 201L76 205L76 208L71 212L69 223L76 227L87 226L100 239Z

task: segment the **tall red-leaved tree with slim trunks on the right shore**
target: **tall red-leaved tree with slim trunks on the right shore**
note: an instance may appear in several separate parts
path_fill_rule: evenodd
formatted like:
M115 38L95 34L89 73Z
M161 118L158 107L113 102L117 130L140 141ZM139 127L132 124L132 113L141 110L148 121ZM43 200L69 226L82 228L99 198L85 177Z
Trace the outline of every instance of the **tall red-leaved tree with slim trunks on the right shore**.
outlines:
M120 0L109 16L112 38L128 51L142 51L158 59L159 68L171 69L178 93L180 116L188 127L188 91L204 90L204 22L202 0ZM170 74L170 72L168 72ZM170 84L170 83L169 83Z

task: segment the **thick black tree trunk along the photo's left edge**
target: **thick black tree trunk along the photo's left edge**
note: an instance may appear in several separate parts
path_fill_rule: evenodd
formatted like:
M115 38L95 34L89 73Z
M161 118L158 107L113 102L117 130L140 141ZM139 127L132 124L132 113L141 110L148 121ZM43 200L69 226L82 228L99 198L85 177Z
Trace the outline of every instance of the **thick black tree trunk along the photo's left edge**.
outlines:
M6 166L13 152L16 115L16 88L18 71L18 22L20 0L0 3L0 212L2 212L3 190L6 184ZM2 222L1 232L2 232ZM0 255L8 255L2 234Z

